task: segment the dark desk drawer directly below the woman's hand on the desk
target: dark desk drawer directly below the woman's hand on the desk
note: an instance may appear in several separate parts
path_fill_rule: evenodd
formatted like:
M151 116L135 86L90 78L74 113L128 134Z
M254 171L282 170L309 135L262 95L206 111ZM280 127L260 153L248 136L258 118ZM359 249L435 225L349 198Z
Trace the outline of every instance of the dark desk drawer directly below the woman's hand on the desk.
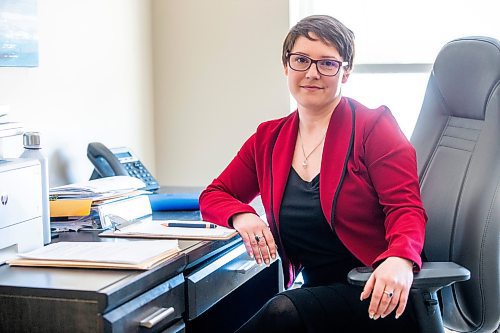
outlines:
M265 268L265 265L257 265L241 244L192 272L186 279L187 318L192 320L198 317Z

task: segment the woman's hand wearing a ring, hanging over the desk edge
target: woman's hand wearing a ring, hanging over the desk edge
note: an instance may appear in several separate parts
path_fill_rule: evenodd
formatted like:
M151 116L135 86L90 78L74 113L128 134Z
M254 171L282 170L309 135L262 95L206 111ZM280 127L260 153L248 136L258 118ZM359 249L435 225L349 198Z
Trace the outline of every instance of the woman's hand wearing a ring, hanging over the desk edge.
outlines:
M267 266L271 259L276 259L276 243L264 221L252 213L241 213L233 216L233 228L238 231L250 257L257 264L264 262Z

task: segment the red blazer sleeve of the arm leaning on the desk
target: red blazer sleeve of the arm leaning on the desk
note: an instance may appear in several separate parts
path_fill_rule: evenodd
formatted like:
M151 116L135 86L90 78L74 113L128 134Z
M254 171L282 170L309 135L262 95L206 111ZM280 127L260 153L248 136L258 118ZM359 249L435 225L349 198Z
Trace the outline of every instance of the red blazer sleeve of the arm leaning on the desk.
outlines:
M249 205L258 194L255 167L256 135L252 135L238 154L200 195L200 210L205 221L232 227L231 217L238 213L254 213Z

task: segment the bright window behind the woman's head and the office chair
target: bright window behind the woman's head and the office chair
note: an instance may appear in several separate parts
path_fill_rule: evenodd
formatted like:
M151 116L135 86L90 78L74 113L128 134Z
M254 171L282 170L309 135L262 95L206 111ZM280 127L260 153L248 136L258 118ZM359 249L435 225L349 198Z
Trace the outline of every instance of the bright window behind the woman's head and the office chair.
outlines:
M291 0L290 24L328 14L353 30L356 57L343 94L387 105L410 137L440 48L463 36L500 39L499 12L498 0Z

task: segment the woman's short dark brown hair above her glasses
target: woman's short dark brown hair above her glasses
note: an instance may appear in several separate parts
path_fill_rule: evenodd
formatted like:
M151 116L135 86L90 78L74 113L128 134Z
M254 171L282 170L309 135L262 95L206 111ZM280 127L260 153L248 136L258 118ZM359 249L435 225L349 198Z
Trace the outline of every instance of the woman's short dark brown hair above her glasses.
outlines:
M287 65L287 53L292 51L297 38L306 37L316 40L311 36L315 34L323 43L337 48L344 61L348 61L347 68L352 68L354 60L354 33L339 20L328 15L312 15L303 18L293 26L283 42L281 60L283 66Z

